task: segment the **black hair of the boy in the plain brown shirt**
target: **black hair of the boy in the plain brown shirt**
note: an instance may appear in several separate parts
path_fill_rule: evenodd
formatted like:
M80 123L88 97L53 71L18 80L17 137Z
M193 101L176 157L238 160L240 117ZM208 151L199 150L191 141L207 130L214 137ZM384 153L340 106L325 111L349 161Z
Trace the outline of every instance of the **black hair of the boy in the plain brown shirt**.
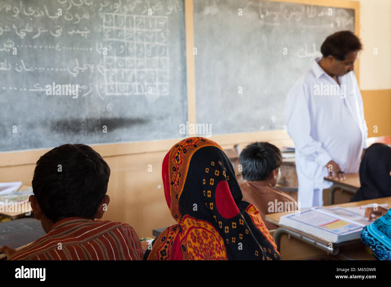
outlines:
M282 153L270 143L252 143L240 153L242 175L245 180L267 180L269 174L282 166Z

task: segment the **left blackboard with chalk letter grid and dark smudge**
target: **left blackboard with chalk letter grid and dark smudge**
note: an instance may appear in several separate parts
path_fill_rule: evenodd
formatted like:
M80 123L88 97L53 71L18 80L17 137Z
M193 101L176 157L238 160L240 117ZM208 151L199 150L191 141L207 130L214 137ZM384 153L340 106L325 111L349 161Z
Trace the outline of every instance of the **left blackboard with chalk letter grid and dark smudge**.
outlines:
M0 151L179 137L185 44L180 0L2 1Z

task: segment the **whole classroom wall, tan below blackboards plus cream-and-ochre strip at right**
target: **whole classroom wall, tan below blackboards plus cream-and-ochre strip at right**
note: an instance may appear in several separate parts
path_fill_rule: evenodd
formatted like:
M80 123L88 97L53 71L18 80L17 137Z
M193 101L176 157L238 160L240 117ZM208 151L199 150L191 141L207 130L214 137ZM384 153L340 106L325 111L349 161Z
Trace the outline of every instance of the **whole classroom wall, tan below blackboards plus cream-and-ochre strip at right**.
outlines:
M365 117L369 137L391 134L391 1L361 0L360 37L364 51L360 55L360 87L364 101ZM312 1L317 4L317 1ZM378 55L373 55L373 47L378 47ZM189 102L195 105L194 102ZM195 116L193 116L195 118ZM378 133L373 133L373 125ZM282 131L264 132L249 137L216 136L212 140L223 148L240 144L241 148L254 139L269 141L278 147L292 145L292 140ZM165 202L161 181L161 162L169 146L178 140L169 141L163 149L154 152L110 155L97 148L111 168L108 194L111 202L103 219L122 221L132 225L140 237L151 237L152 229L169 226L175 221ZM167 143L167 141L165 141ZM153 142L151 143L154 144ZM156 143L158 144L158 143ZM30 185L34 162L47 150L37 152L34 159L24 164L14 165L12 160L0 162L0 182L22 181ZM39 155L38 155L39 154ZM118 153L121 154L121 153ZM148 165L152 165L152 172Z

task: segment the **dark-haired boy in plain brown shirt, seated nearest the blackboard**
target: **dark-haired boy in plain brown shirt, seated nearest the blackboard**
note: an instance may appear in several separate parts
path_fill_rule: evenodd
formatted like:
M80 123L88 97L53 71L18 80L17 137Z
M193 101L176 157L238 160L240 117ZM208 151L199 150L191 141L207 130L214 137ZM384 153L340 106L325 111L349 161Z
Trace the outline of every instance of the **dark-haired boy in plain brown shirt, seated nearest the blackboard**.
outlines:
M240 153L239 161L243 178L246 180L240 185L243 200L255 205L269 230L276 229L278 226L266 221L265 215L276 212L276 204L294 207L295 201L275 188L281 177L281 151L270 143L252 143Z

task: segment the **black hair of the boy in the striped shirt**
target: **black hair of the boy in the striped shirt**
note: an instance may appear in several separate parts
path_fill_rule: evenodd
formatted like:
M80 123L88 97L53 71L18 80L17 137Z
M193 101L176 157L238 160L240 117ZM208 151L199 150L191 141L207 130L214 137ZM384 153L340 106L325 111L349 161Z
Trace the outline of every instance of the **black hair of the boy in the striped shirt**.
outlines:
M53 222L66 217L95 219L109 176L108 164L90 146L63 144L39 158L32 190Z

